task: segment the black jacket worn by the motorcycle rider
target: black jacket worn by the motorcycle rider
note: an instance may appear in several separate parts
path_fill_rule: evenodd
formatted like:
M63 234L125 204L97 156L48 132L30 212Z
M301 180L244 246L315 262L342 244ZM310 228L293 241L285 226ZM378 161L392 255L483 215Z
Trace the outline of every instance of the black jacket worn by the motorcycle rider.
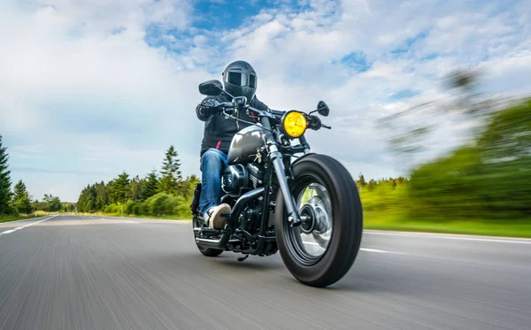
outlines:
M215 99L219 103L231 101L228 96L224 95L206 96L204 99L207 100L210 98ZM250 106L261 111L266 111L268 109L267 105L258 101L256 96L253 97ZM237 111L235 117L250 122L258 122L258 119L250 117L246 112L247 111ZM201 156L203 156L204 151L211 148L219 149L227 154L230 142L235 134L243 128L250 126L250 124L236 121L236 119L225 119L225 115L223 114L208 116L204 113L201 104L196 106L196 114L198 119L204 121L204 136L200 152Z

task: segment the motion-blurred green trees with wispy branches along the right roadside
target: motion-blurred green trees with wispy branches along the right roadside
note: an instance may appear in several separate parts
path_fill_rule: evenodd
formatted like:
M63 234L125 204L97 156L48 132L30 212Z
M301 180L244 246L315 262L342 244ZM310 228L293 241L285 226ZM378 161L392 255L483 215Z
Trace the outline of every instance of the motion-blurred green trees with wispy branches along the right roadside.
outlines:
M438 124L433 114L452 112L474 124L468 141L443 157L412 168L408 180L361 192L364 209L403 213L402 219L528 221L531 219L531 98L484 95L480 73L450 73L455 96L419 104L382 120L389 145L411 158ZM423 126L404 122L426 116ZM431 119L431 121L430 121ZM403 133L406 127L406 132Z

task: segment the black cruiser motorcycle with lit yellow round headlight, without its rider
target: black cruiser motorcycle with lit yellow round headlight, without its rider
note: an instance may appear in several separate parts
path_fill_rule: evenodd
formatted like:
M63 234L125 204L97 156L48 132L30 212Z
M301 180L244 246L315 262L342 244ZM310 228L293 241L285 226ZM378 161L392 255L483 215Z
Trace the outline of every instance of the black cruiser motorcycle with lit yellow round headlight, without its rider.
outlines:
M304 136L307 129L331 129L312 115L327 117L327 104L320 101L309 113L260 111L244 96L228 94L219 81L201 83L199 92L233 100L218 105L219 115L244 121L234 115L247 111L258 119L230 144L221 203L231 212L223 214L222 229L205 226L198 211L202 186L196 184L190 210L199 251L207 257L233 251L243 255L239 261L280 251L289 272L308 286L324 288L341 280L358 255L363 214L350 173L335 158L312 153Z

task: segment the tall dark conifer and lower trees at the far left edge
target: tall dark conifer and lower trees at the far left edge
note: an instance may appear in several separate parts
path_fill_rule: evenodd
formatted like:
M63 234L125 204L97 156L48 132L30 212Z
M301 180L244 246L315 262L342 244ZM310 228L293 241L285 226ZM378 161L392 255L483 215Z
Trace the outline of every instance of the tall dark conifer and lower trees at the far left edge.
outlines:
M61 203L58 196L51 194L44 194L42 201L33 200L22 180L19 180L12 189L8 160L7 147L3 146L0 135L0 217L19 216L33 211L73 210L72 203Z

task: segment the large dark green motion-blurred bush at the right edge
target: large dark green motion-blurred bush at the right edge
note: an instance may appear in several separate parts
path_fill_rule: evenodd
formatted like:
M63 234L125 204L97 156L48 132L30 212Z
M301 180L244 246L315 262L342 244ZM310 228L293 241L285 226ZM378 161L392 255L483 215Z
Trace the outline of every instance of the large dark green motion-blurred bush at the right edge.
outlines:
M471 145L415 169L411 200L427 216L528 219L529 150L531 100L492 113Z

